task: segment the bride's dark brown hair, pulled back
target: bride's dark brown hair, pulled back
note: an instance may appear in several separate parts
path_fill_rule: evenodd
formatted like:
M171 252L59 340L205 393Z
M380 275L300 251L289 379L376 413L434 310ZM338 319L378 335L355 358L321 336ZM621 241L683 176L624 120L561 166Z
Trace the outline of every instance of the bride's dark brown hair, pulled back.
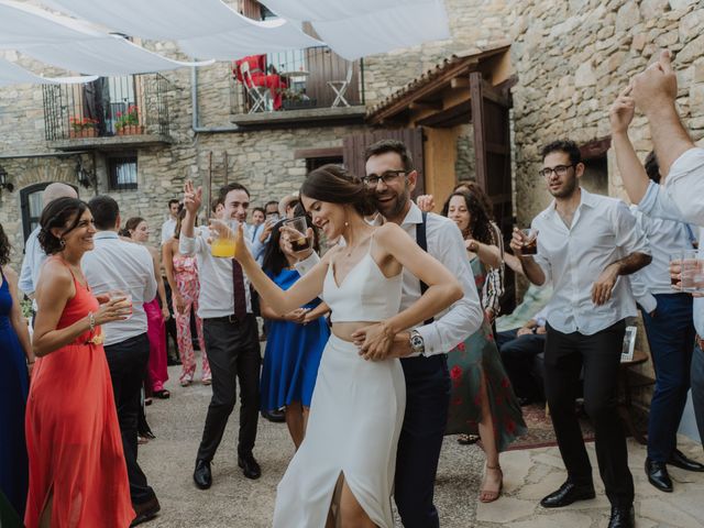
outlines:
M366 185L340 165L328 164L311 170L300 186L300 196L304 195L314 200L350 205L363 217L376 212Z

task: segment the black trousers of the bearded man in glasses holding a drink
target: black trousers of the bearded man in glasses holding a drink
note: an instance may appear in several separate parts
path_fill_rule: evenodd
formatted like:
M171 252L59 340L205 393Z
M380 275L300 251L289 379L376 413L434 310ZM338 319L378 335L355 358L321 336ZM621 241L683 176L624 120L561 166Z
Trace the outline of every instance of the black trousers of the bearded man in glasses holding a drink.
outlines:
M593 336L562 333L550 326L546 342L546 393L568 479L591 484L592 465L574 410L580 372L584 367L584 410L594 424L596 460L606 496L613 506L634 502L626 435L618 416L616 391L625 321Z

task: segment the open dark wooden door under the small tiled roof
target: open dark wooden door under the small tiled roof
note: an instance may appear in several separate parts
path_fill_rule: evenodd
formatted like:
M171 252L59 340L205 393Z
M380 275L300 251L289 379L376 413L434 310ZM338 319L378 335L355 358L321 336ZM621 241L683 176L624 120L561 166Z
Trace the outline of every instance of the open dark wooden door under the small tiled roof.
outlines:
M470 74L472 124L474 128L474 156L476 183L494 206L494 218L508 248L514 228L514 208L510 173L510 96L493 87L482 74ZM504 280L502 312L516 307L516 280L507 267Z

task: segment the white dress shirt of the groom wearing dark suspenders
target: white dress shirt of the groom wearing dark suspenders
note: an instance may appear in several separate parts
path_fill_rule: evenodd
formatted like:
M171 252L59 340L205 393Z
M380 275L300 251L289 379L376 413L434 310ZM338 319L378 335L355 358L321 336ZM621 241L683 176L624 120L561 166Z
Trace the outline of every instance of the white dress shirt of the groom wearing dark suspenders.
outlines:
M416 227L419 223L422 223L422 212L418 206L411 202L410 210L400 227L410 238L416 240ZM464 296L449 309L437 314L433 322L416 328L424 339L426 348L424 355L430 356L449 352L472 336L482 326L484 312L470 260L466 257L464 240L457 224L446 217L428 213L426 240L428 253L440 261L458 278L464 292ZM302 275L310 271L318 261L319 257L314 252L310 257L299 262L296 268ZM419 297L420 282L410 271L404 268L400 310L408 308Z

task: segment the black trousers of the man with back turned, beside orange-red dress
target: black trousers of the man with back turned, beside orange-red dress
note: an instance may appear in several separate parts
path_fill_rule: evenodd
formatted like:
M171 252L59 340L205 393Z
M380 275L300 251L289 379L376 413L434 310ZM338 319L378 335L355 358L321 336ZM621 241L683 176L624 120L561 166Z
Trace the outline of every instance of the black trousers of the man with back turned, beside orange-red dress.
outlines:
M106 346L106 358L112 378L114 404L122 433L122 449L130 479L132 504L143 504L154 498L154 490L136 461L136 429L140 415L142 380L150 361L150 340L146 333Z

